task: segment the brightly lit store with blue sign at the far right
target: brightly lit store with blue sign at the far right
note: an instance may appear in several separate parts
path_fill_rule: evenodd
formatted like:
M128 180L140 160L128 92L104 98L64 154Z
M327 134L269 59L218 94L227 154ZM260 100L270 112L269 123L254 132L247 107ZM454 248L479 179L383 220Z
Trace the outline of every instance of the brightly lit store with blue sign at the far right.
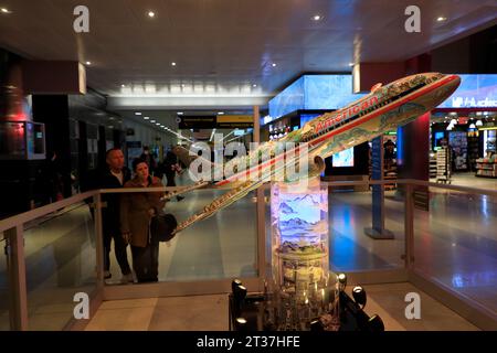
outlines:
M431 117L430 178L437 182L469 182L470 175L495 178L495 75L463 75L451 100ZM438 152L447 148L447 151ZM445 159L437 163L437 156ZM436 170L441 165L441 170ZM440 178L438 178L440 176ZM454 176L454 178L452 178ZM462 178L458 178L462 176Z

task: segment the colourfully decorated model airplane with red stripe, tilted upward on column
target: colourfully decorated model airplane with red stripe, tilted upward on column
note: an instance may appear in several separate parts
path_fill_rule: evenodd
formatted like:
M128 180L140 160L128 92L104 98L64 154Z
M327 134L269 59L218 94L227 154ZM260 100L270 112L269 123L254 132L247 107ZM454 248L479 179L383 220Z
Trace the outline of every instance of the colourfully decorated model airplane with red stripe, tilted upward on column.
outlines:
M214 199L197 214L179 223L175 234L195 222L210 217L219 210L229 206L272 180L277 173L282 173L277 167L282 163L278 161L285 160L286 164L288 162L297 163L303 143L306 143L308 153L308 178L317 176L324 171L325 158L415 120L448 98L459 83L461 78L457 75L424 73L398 79L385 86L378 84L370 94L347 107L318 116L303 128L292 131L278 140L261 143L248 156L236 157L225 164L224 168L231 168L230 170L234 170L235 173L211 184L232 189ZM277 142L294 142L295 149L282 150ZM187 165L197 158L202 158L190 156L191 153L182 147L175 148L173 152ZM261 156L268 156L268 158L261 161ZM252 162L254 160L255 163ZM245 168L240 168L240 165ZM222 165L213 167L214 169L223 168ZM262 178L248 178L254 173ZM222 170L220 174L223 174ZM209 183L198 181L186 191L203 188L207 184Z

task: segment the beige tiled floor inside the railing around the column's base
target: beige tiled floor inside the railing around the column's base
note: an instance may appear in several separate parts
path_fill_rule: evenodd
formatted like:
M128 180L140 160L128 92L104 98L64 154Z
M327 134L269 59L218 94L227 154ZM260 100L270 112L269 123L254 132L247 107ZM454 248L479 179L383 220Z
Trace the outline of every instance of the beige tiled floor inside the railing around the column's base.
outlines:
M410 284L364 286L366 312L379 314L389 331L478 330ZM421 296L421 319L408 320L408 292ZM86 330L226 331L228 295L149 298L104 302Z

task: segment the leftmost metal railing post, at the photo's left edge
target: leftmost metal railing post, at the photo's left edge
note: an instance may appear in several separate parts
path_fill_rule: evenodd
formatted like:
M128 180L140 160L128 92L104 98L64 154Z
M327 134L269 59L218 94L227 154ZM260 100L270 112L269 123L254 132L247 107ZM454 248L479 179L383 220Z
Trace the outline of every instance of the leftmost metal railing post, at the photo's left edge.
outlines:
M10 327L12 330L28 330L28 289L25 281L23 226L4 232L8 257L7 272L10 287Z

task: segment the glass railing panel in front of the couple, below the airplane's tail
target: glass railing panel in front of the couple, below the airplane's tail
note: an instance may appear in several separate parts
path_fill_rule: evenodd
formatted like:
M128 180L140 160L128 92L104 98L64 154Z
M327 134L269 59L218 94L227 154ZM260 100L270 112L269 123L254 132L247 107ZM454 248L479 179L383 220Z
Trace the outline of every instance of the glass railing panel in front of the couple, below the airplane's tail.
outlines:
M229 190L202 189L190 191L181 201L173 197L166 203L165 213L172 214L178 223L209 205ZM134 193L128 193L133 197ZM123 194L120 194L123 195ZM133 236L133 235L131 235ZM133 252L127 246L128 263L133 265ZM169 242L159 243L159 281L195 281L257 277L257 217L255 192L230 206L199 221ZM120 284L120 269L110 254L112 280ZM134 280L137 281L136 271Z

